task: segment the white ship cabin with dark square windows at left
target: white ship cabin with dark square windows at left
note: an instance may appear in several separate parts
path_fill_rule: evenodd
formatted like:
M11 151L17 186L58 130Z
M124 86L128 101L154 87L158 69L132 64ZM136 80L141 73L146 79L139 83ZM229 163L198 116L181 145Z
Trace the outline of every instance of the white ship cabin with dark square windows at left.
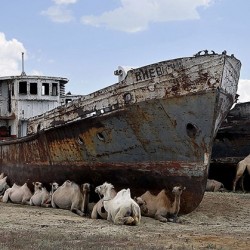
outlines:
M25 74L0 77L0 141L27 135L29 118L75 99L65 95L67 82L62 77Z

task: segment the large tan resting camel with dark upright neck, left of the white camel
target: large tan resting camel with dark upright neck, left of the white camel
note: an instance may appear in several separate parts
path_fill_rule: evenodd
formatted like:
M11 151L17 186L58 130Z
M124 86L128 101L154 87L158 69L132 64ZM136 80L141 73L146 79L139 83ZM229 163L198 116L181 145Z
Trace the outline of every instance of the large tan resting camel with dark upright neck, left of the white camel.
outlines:
M89 191L89 183L83 184L80 188L78 184L67 180L53 193L51 205L84 216L88 213Z

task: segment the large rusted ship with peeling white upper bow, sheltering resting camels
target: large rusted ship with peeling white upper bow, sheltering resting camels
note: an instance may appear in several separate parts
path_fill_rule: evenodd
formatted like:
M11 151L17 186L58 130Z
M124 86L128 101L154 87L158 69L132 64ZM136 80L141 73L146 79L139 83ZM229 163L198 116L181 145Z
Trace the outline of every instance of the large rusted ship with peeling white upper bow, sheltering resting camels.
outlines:
M108 181L130 187L132 195L182 184L181 212L191 212L203 198L212 143L235 102L240 67L233 55L203 51L127 72L118 68L114 85L32 118L19 116L17 129L27 134L0 142L0 170L11 183ZM37 86L48 83L49 95L53 86L59 93L65 80L55 80L40 77ZM0 78L8 86L7 110L1 110L6 127L21 94L15 89L26 82L22 97L28 98L34 81Z

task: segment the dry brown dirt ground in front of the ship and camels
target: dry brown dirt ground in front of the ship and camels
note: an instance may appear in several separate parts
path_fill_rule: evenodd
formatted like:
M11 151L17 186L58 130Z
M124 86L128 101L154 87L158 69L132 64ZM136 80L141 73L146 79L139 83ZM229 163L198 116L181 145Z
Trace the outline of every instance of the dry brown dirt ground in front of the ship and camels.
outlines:
M205 193L179 223L116 226L70 211L0 203L0 249L250 249L250 193Z

